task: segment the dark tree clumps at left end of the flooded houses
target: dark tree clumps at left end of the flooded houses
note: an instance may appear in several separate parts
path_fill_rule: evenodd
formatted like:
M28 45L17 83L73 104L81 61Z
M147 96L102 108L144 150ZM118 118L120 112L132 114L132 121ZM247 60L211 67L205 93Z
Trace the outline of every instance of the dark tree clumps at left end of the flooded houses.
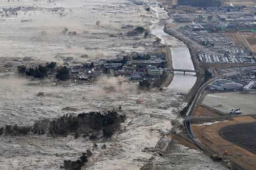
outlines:
M27 68L24 65L17 66L17 70L20 74L25 74L27 76L32 76L34 78L43 79L48 76L50 72L56 67L56 62L46 63L45 66L39 64L35 68ZM56 78L62 81L69 79L69 68L66 66L60 67L57 70Z

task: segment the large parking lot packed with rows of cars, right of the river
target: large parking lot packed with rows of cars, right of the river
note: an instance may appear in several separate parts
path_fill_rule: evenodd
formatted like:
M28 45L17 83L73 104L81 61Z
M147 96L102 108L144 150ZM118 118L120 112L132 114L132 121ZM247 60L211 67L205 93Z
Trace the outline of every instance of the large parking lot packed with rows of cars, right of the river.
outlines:
M187 35L195 42L207 47L211 52L199 52L198 61L202 63L255 63L249 52L221 33L207 33L201 31L185 30Z

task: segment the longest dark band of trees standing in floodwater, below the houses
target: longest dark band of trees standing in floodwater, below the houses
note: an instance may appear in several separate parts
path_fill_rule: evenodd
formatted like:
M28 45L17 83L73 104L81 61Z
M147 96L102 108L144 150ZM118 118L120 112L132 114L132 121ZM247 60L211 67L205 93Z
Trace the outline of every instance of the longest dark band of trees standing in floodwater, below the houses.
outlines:
M49 133L52 136L66 137L74 133L75 138L77 138L79 134L93 134L94 132L102 131L103 136L108 138L119 129L120 123L124 122L125 118L125 115L119 115L115 111L81 113L77 116L66 114L53 120L40 120L31 127L6 125L5 129L0 129L0 134L27 135L30 133Z

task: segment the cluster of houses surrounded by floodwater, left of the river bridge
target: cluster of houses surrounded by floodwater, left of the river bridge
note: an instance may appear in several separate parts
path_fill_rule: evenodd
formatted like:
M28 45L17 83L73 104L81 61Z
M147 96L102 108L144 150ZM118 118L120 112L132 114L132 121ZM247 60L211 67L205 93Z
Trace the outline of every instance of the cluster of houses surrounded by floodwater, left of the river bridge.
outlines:
M128 80L151 80L159 78L166 65L164 53L147 54L147 60L125 60L122 57L112 60L99 60L70 67L70 75L75 80L91 81L98 76L123 76Z

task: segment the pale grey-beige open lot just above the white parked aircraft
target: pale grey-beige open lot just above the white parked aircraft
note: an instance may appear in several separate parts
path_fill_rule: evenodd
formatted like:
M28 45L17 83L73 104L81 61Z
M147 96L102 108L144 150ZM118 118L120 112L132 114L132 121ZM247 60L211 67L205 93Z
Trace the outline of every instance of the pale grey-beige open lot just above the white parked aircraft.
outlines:
M253 92L244 94L240 92L226 92L207 94L202 104L226 113L229 109L241 108L242 115L256 114L256 95ZM220 107L214 107L222 105Z

